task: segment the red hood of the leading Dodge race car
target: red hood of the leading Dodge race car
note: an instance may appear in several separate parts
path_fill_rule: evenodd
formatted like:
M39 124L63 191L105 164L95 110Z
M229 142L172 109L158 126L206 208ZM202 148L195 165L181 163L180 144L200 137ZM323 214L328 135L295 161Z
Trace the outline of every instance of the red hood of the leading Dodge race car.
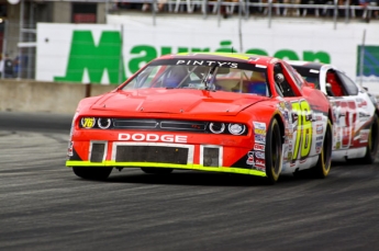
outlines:
M104 94L92 110L169 114L236 115L239 111L268 98L223 91L183 89L143 89Z

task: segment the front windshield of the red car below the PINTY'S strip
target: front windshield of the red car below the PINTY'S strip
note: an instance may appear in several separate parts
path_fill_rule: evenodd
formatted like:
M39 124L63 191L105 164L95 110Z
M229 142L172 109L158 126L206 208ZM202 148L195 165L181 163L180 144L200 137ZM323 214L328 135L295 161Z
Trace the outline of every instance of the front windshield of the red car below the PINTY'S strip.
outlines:
M242 69L232 68L231 65L219 67L215 64L213 66L153 64L134 76L123 90L198 89L269 95L266 68L245 64L245 68L249 69ZM232 66L235 67L235 65Z

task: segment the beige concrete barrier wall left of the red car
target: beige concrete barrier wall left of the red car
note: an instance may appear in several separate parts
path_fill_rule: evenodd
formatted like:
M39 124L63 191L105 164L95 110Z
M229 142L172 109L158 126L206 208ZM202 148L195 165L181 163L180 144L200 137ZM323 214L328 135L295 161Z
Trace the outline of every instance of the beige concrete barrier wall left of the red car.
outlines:
M3 79L0 81L0 111L74 114L81 99L114 89L115 85Z

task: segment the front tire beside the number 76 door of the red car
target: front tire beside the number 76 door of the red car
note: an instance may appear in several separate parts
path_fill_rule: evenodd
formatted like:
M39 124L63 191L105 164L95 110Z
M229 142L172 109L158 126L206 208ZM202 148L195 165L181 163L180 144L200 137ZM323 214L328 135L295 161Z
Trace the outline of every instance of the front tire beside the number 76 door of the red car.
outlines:
M280 175L282 164L282 141L278 121L272 118L266 135L266 175L268 184L275 184Z

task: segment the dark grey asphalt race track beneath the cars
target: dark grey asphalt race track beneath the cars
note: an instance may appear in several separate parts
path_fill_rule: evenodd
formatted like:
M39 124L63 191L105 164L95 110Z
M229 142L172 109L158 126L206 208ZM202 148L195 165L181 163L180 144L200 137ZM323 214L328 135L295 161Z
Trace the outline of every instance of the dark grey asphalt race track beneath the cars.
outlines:
M0 250L379 250L379 163L260 179L65 167L70 116L0 113Z

